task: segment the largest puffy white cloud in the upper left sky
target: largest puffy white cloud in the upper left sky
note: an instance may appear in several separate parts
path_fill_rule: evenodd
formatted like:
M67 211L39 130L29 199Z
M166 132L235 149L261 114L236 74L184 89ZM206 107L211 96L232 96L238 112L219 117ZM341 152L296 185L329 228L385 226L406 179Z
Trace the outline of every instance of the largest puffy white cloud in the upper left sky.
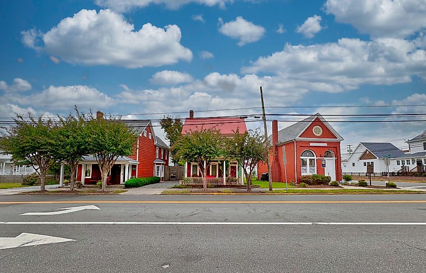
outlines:
M81 10L41 37L45 52L72 64L141 68L191 61L193 57L191 50L180 44L178 26L159 28L147 23L135 31L134 25L110 10Z

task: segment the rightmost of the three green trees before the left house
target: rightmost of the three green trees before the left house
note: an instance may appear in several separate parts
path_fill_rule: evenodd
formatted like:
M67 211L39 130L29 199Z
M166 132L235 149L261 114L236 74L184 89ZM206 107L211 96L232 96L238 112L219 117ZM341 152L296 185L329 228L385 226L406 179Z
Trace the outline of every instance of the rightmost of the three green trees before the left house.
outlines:
M120 120L109 117L92 118L86 125L90 154L96 158L102 177L102 191L106 190L108 172L119 156L132 155L137 134Z

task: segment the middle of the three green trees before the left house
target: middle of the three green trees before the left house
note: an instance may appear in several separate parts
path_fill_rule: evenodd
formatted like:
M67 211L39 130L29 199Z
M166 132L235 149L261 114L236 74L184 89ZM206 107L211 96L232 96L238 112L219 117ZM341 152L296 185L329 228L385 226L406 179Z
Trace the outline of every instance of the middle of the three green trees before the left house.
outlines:
M70 166L70 190L74 190L78 163L89 151L88 134L86 133L87 118L75 107L76 116L58 117L59 126L55 134L56 160Z

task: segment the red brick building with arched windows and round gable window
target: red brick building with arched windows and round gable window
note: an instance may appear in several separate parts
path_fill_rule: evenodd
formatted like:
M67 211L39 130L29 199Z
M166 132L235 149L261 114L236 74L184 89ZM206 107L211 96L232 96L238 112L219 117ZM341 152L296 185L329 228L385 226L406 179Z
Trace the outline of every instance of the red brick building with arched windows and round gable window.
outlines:
M297 122L278 131L278 122L272 122L272 135L269 137L272 153L272 181L286 180L298 183L301 175L321 174L330 176L332 181L342 180L340 166L340 142L343 138L319 114ZM258 165L258 178L267 173L264 163Z

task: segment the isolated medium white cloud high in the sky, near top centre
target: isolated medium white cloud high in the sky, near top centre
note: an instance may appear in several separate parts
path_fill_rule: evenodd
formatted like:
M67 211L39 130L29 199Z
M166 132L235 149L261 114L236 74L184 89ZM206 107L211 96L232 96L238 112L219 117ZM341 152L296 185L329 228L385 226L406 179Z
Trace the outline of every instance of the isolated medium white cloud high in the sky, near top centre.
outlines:
M239 46L259 41L266 32L264 27L255 25L241 16L238 16L235 21L224 24L222 18L219 18L219 24L219 32L228 37L238 39L237 44Z

